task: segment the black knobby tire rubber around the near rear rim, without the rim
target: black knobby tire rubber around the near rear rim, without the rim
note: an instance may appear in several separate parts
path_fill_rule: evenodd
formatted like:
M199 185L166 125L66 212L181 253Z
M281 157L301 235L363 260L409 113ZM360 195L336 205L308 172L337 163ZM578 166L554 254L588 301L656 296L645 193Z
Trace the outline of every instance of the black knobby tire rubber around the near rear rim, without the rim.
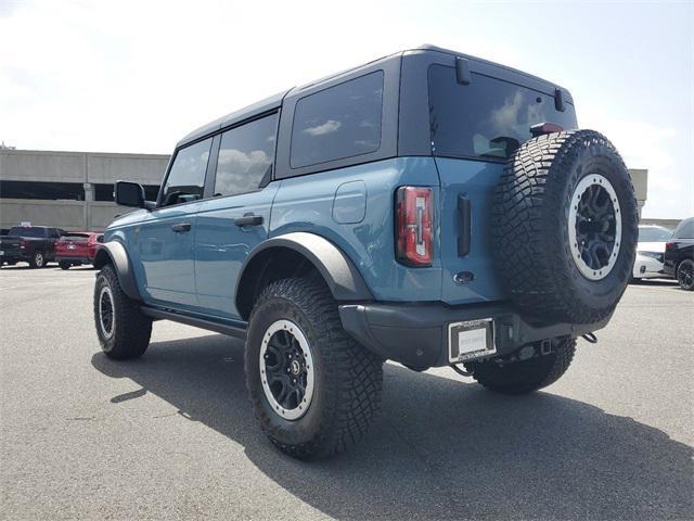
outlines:
M319 278L282 279L270 283L258 297L250 314L256 318L258 306L270 298L282 298L297 306L312 325L321 342L326 381L336 383L324 409L320 428L313 439L298 445L277 440L268 429L265 411L257 403L266 399L260 390L248 393L256 417L270 441L292 457L306 459L344 453L368 431L381 409L383 390L383 359L361 346L344 329L337 304L325 283ZM252 370L246 356L246 374Z

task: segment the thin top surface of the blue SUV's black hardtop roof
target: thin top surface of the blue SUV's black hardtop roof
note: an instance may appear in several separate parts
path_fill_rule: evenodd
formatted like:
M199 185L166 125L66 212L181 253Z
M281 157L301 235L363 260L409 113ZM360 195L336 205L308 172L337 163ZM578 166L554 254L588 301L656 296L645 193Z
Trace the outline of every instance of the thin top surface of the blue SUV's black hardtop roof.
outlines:
M237 111L234 111L234 112L232 112L230 114L227 114L226 116L222 116L222 117L220 117L218 119L215 119L214 122L210 122L210 123L208 123L206 125L203 125L202 127L196 128L192 132L188 134L183 139L181 139L177 143L176 147L177 148L182 147L182 145L188 144L188 143L190 143L192 141L195 141L195 140L200 139L200 138L203 138L204 136L214 134L217 130L220 130L221 128L232 126L235 123L242 122L242 120L247 119L249 117L254 117L254 116L264 114L266 112L270 112L270 111L273 111L275 109L279 109L282 105L282 101L284 100L284 98L290 93L299 92L299 91L305 90L305 89L307 89L309 87L314 87L314 86L320 85L320 84L322 84L324 81L329 81L329 80L335 79L335 78L337 78L339 76L343 76L343 75L346 75L346 74L351 74L351 73L354 73L356 71L359 71L360 68L363 68L365 66L372 65L372 64L374 64L376 62L400 59L403 54L410 53L410 52L439 52L439 53L450 54L450 55L453 55L453 56L461 56L461 58L465 58L467 60L472 60L472 61L475 61L475 62L478 62L478 63L481 63L481 64L486 64L486 65L489 65L489 66L498 67L500 69L513 73L515 75L524 76L524 77L526 77L526 78L528 78L528 79L530 79L530 80L532 80L535 82L539 81L539 82L551 85L551 86L555 87L555 84L553 84L551 81L548 81L545 79L539 78L538 76L534 76L531 74L524 73L523 71L518 71L516 68L509 67L506 65L501 65L499 63L491 62L489 60L485 60L485 59L481 59L481 58L477 58L477 56L473 56L473 55L465 54L465 53L462 53L462 52L452 51L450 49L444 49L441 47L436 47L436 46L432 46L432 45L425 43L425 45L422 45L422 46L416 47L414 49L406 49L403 51L398 51L396 53L388 54L388 55L380 58L377 60L373 60L371 62L361 64L361 65L359 65L357 67L352 67L352 68L349 68L347 71L342 71L342 72L336 73L336 74L331 74L330 76L325 76L325 77L320 78L318 80L310 81L308 84L305 84L305 85L301 85L301 86L298 86L298 87L293 87L293 88L291 88L288 90L283 90L282 92L278 92L277 94L271 96L269 98L266 98L265 100L258 101L257 103L254 103L252 105L248 105L248 106L245 106L245 107L240 109ZM556 86L556 87L558 87L558 86ZM569 103L573 103L571 97L568 93L568 91L566 89L563 89L563 90L567 94L567 101Z

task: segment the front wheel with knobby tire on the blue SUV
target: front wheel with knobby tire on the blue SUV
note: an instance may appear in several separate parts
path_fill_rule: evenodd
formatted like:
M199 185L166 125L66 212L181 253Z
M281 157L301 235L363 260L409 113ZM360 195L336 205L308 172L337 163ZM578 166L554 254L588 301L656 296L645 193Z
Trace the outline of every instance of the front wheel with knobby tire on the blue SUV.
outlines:
M111 264L97 276L94 326L101 348L110 358L138 358L150 345L152 319L140 310L138 301L125 294Z

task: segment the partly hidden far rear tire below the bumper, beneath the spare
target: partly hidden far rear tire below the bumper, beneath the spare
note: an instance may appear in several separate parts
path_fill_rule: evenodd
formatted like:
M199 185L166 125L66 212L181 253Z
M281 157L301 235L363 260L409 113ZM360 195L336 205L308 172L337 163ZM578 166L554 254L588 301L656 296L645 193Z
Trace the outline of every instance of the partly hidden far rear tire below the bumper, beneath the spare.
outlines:
M499 365L493 360L473 361L465 368L477 383L501 394L526 394L556 382L574 359L576 339L561 340L548 355Z

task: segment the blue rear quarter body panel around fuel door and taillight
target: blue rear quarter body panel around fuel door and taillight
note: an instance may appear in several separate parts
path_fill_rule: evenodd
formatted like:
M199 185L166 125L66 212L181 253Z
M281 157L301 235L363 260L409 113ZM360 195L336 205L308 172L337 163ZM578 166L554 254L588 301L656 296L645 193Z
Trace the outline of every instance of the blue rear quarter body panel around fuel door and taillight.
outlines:
M369 201L362 220L333 220L333 199L338 187L362 181ZM396 157L365 165L284 179L272 205L270 237L308 231L340 247L355 263L373 295L380 301L438 301L441 266L435 255L430 268L410 268L395 259L395 191L403 185L434 188L438 200L438 175L432 157ZM438 212L435 212L438 221ZM440 249L440 234L435 251Z

